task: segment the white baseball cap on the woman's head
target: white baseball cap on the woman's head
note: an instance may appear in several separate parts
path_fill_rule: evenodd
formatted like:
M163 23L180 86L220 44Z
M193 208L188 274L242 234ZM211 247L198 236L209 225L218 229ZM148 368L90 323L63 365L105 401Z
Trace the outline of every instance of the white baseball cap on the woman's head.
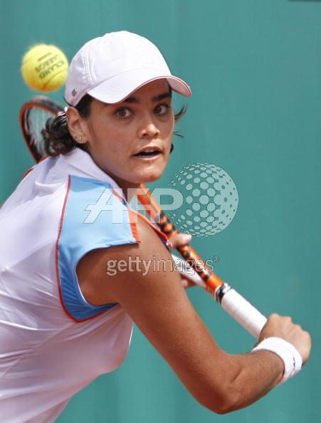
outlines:
M65 100L74 106L90 94L104 103L119 103L161 78L177 93L191 95L189 85L172 75L159 49L147 38L127 31L106 33L85 43L71 61Z

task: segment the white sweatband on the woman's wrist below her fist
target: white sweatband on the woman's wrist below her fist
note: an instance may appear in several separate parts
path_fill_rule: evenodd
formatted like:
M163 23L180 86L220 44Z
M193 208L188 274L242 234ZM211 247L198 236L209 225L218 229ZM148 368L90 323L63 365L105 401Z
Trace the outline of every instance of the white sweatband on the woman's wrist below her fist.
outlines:
M288 341L282 338L265 338L261 343L259 343L256 348L253 348L251 352L258 350L268 350L275 352L284 362L284 373L283 377L280 380L280 384L285 382L285 380L290 379L290 377L295 376L300 372L302 367L302 357L300 352Z

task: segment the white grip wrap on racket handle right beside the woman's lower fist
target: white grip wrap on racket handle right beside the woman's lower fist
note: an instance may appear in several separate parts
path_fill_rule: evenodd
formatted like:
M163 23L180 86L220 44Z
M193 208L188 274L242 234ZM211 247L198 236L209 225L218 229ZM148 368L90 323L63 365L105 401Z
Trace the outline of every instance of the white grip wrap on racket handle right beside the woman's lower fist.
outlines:
M256 339L259 338L267 319L235 289L228 287L223 293L221 306Z

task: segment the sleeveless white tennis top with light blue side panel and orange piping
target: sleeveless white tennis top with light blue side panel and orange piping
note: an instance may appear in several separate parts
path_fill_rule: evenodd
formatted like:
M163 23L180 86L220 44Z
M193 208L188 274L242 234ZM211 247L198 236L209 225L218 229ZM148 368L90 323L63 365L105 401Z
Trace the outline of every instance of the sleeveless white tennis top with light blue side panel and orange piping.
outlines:
M75 267L90 250L140 242L133 213L78 148L33 167L0 209L1 422L54 422L124 360L132 320L85 301Z

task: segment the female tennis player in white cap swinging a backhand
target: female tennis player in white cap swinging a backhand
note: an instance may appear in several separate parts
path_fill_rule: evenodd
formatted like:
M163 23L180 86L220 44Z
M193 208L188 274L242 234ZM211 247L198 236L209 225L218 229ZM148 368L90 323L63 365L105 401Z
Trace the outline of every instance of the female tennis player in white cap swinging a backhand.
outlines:
M276 314L251 352L223 352L167 266L170 244L190 237L168 240L130 206L167 166L173 91L191 95L151 42L126 31L89 41L70 63L68 109L46 125L49 157L0 211L1 421L53 422L120 366L133 322L217 413L255 402L309 357L310 335Z

